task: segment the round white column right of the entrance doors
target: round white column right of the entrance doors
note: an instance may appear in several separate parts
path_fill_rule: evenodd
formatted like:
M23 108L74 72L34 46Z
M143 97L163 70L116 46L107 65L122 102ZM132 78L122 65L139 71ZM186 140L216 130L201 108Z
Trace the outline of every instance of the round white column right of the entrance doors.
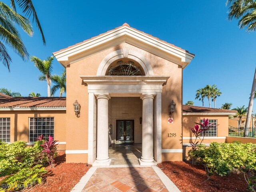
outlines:
M142 156L140 165L154 165L153 157L153 99L154 95L142 95Z

